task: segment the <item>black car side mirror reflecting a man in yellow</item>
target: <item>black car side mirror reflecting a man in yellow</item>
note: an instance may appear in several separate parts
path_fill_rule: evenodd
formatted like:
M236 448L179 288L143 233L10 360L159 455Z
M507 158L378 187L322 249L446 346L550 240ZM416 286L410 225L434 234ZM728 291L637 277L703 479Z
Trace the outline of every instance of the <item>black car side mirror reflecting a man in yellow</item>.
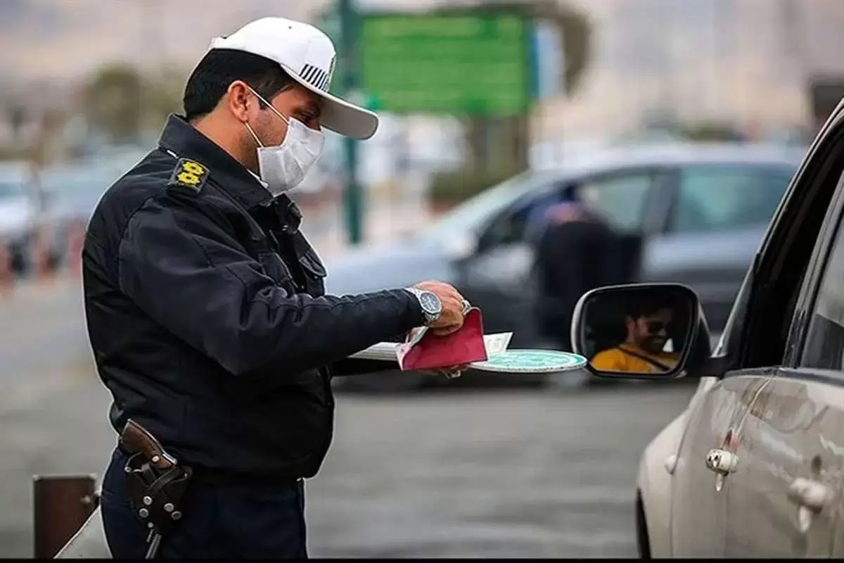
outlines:
M695 375L711 355L706 317L683 284L626 284L582 295L571 343L595 376L673 379Z

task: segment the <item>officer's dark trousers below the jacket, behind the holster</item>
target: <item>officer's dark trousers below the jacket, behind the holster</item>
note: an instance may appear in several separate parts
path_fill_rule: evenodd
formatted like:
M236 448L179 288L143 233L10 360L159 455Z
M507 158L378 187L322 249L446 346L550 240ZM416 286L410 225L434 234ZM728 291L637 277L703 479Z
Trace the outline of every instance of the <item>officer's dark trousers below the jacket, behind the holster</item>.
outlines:
M132 512L123 466L116 449L103 479L100 506L111 555L142 559L148 531ZM192 480L184 517L161 542L164 558L307 559L305 487L233 485Z

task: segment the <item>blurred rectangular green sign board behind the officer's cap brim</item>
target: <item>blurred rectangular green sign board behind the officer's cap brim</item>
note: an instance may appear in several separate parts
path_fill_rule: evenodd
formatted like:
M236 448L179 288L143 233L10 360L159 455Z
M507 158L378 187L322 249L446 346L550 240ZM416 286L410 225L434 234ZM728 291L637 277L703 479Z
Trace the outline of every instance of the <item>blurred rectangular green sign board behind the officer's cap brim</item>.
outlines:
M381 111L512 116L532 99L529 19L360 14L360 86Z

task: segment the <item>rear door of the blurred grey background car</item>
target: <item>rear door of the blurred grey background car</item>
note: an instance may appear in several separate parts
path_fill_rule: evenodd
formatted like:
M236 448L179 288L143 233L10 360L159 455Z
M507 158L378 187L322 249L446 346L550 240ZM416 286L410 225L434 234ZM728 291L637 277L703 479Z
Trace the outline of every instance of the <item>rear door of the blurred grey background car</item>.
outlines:
M672 175L664 230L650 238L644 281L689 285L719 332L793 169L785 165L683 165Z

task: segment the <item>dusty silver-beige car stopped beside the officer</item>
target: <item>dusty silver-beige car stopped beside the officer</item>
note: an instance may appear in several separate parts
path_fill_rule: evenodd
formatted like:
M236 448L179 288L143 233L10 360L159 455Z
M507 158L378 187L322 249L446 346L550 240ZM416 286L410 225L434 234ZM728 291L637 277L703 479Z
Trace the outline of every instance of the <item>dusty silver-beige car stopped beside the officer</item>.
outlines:
M749 262L711 354L702 295L687 286L601 288L578 304L571 334L590 358L601 318L624 318L642 292L670 304L660 314L670 311L672 332L659 334L672 349L657 353L673 355L671 369L590 365L594 375L700 380L641 457L643 557L844 557L844 103Z

